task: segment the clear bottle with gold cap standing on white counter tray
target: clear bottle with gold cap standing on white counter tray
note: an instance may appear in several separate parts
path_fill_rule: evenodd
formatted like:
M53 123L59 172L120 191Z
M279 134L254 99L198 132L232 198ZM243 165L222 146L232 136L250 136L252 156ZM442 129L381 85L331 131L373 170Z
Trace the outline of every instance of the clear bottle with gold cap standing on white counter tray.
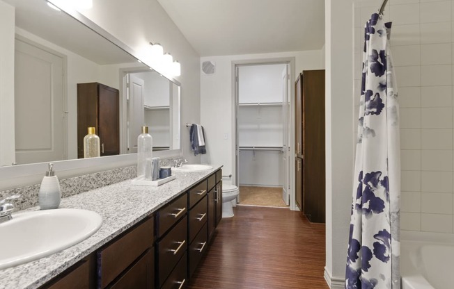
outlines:
M137 138L137 179L152 181L152 147L148 126L142 126L142 133Z

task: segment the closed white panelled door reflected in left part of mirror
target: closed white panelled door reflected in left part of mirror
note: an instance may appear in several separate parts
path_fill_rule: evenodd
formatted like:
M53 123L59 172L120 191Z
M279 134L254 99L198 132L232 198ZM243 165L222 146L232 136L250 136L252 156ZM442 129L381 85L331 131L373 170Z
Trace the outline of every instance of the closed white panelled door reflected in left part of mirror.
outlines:
M15 40L16 163L64 160L63 58Z

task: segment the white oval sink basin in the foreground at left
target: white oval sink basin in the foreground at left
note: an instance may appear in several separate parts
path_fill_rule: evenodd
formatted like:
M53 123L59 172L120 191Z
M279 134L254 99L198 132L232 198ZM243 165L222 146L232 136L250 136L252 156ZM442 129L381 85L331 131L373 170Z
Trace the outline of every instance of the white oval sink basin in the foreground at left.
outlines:
M91 210L58 208L13 214L0 224L0 269L49 256L95 233L102 224Z

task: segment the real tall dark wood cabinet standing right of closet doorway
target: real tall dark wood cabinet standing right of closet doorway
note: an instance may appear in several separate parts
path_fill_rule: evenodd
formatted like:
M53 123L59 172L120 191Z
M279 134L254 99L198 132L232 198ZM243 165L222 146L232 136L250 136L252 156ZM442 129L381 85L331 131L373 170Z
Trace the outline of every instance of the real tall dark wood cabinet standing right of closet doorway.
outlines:
M324 70L305 70L295 82L295 158L297 206L324 223Z

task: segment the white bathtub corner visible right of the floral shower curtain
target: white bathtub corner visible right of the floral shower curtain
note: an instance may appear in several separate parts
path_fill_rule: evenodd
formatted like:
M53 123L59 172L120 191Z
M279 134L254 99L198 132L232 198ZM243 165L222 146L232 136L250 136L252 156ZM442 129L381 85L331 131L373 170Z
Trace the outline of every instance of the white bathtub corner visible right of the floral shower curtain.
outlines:
M402 289L454 288L454 234L402 231Z

